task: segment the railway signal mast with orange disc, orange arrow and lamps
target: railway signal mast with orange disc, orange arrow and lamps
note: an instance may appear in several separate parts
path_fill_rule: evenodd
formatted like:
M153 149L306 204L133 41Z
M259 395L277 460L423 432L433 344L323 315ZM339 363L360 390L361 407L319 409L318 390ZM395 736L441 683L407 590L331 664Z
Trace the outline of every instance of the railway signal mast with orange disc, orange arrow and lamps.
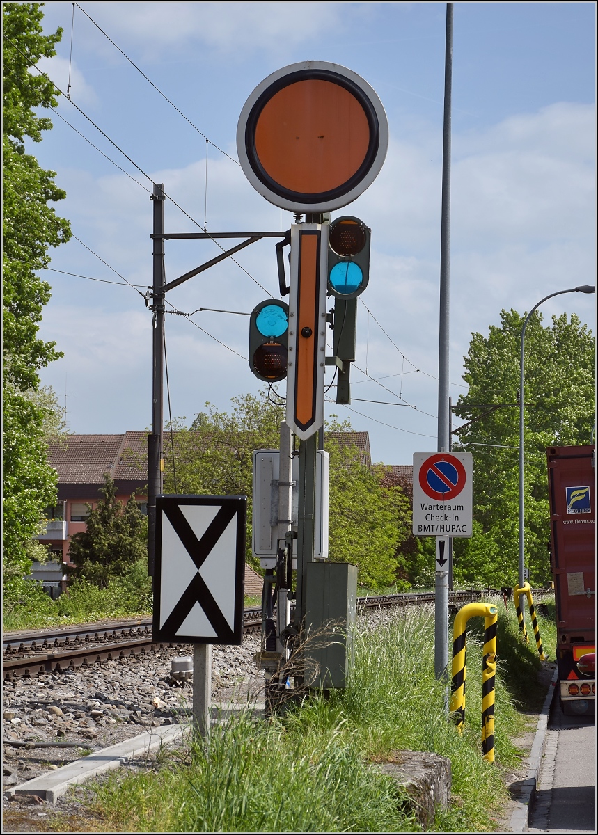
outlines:
M331 223L330 212L356 200L378 176L388 149L388 120L378 95L357 73L334 63L306 61L281 68L257 85L241 110L236 142L251 185L272 204L294 212L296 220L286 240L277 245L281 295L289 294L286 424L299 438L296 534L290 521L284 549L289 559L280 559L279 565L290 564L289 550L296 544L296 608L286 636L299 635L303 625L313 629L319 625L316 621L337 620L339 613L349 620L354 617L355 566L324 567L314 561L317 432L324 423L327 365L337 367L337 402L351 402L356 299L369 277L370 230L352 216ZM281 251L289 243L291 274L286 287ZM327 296L335 296L332 316L327 315ZM276 347L276 334L260 326L261 311L275 304L281 302L262 302L251 317L249 362L261 379L284 377L281 366L276 366L281 376L271 377L274 367L266 368L270 360L264 357L267 352L272 366L281 360L281 335ZM326 357L331 321L333 351ZM260 342L256 329L270 342ZM281 447L281 462L283 458ZM281 574L282 582L276 580L279 606L280 591L288 586L288 571ZM341 598L328 595L326 602L320 600L322 580L324 586L342 588ZM329 673L320 681L322 686L342 686L347 657L343 670ZM317 659L321 664L322 660L326 661Z

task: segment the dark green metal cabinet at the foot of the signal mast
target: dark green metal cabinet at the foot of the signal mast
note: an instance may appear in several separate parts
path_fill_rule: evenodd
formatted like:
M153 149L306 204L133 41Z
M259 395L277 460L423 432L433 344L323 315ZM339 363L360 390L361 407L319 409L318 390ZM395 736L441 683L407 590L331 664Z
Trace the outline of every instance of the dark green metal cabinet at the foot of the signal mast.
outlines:
M304 681L311 687L347 686L357 615L357 565L308 563Z

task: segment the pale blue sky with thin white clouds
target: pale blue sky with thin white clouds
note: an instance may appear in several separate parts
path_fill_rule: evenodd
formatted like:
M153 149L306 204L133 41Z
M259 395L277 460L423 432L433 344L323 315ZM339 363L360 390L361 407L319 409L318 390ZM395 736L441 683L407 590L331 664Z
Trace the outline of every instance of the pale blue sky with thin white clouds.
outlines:
M370 281L358 306L352 372L352 396L360 400L350 409L327 404L327 413L367 430L377 461L410 463L413 452L434 450L445 4L81 6L209 137L207 190L205 139L80 8L70 63L73 103L212 232L291 224L291 215L257 195L239 165L215 148L236 159L237 119L262 78L312 58L341 63L376 89L390 126L387 160L370 189L337 212L372 227ZM43 69L66 89L73 6L49 3L44 10L46 31L62 26L64 33L57 58L44 61ZM58 115L53 130L31 148L67 191L58 212L71 220L74 235L144 291L152 270L149 180L66 99L58 114L139 181ZM462 362L472 332L485 334L499 324L502 308L530 310L550 292L594 283L593 3L455 3L451 200L450 379L456 400L466 391ZM168 201L165 228L197 230ZM209 241L167 242L166 276L175 278L217 252ZM237 260L276 295L271 240L252 245ZM51 266L121 281L74 239L53 251ZM128 286L58 272L44 277L53 297L40 334L55 340L64 358L43 371L43 383L68 395L71 431L149 426L151 321L143 299ZM168 299L181 311L205 306L249 312L265 297L229 261ZM575 312L595 330L594 298L560 296L542 310L545 316ZM206 401L228 408L231 397L261 385L246 362L244 317L204 311L193 321L227 347L183 317L166 317L172 412L188 421Z

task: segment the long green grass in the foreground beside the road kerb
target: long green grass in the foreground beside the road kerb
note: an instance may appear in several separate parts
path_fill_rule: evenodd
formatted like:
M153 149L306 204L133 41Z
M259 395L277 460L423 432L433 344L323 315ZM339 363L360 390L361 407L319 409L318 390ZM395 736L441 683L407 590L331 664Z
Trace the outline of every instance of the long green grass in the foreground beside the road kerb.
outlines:
M502 600L492 602L502 605L494 764L480 752L479 627L470 621L466 720L459 735L444 716L443 687L433 674L429 607L357 630L347 690L327 698L314 692L268 721L241 713L215 727L208 749L187 745L165 752L152 771L111 775L90 789L94 812L113 831L128 832L417 831L402 791L374 765L407 749L451 761L452 804L438 812L434 831L494 829L509 799L504 772L522 757L513 739L526 718L514 694L522 705L524 697L530 700L540 662L535 645L522 642L514 612L508 614ZM539 620L550 651L549 622Z

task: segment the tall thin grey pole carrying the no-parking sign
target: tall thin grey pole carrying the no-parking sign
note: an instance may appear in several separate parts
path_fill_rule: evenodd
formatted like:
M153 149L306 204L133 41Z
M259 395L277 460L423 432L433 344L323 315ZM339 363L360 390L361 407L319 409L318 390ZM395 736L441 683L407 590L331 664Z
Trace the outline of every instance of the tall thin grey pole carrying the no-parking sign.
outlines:
M449 452L449 252L450 252L450 160L451 91L453 77L453 3L447 3L444 58L443 185L440 227L440 322L438 334L438 452ZM436 559L448 554L448 538L436 537ZM434 582L434 673L446 681L445 711L449 712L449 571L438 570Z

